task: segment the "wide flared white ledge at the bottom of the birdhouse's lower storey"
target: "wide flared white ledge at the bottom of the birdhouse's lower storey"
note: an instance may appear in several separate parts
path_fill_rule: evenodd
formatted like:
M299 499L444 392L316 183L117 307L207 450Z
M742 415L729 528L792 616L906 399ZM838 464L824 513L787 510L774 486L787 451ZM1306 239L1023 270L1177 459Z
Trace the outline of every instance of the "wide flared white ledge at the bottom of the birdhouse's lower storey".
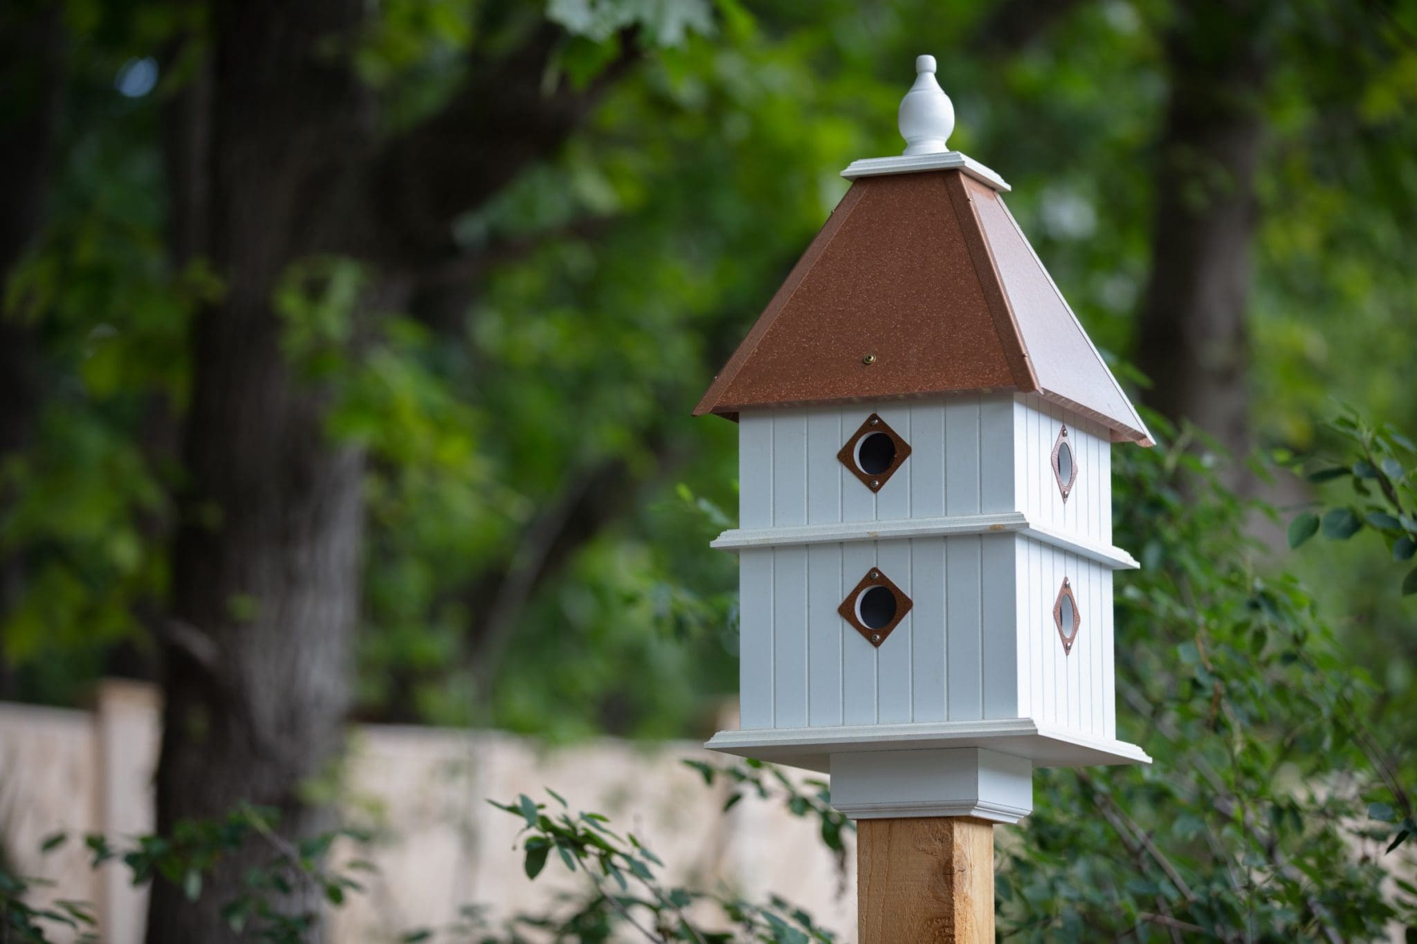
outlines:
M1094 739L1032 718L915 725L721 730L704 747L786 767L830 773L833 754L982 747L1034 767L1149 764L1136 744Z

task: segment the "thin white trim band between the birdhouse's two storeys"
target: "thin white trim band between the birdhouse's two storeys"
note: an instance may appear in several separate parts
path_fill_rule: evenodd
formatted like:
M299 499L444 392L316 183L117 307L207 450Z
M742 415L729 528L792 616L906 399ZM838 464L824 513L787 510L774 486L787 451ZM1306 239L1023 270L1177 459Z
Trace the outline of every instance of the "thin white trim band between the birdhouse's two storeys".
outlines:
M887 541L900 538L939 538L975 534L1022 534L1041 543L1097 560L1114 570L1135 570L1141 565L1121 548L1088 541L1056 528L1034 524L1020 511L988 515L948 515L944 518L897 518L891 521L849 521L829 525L794 525L785 528L730 528L714 538L711 548L743 551L803 543L843 543L852 541Z

